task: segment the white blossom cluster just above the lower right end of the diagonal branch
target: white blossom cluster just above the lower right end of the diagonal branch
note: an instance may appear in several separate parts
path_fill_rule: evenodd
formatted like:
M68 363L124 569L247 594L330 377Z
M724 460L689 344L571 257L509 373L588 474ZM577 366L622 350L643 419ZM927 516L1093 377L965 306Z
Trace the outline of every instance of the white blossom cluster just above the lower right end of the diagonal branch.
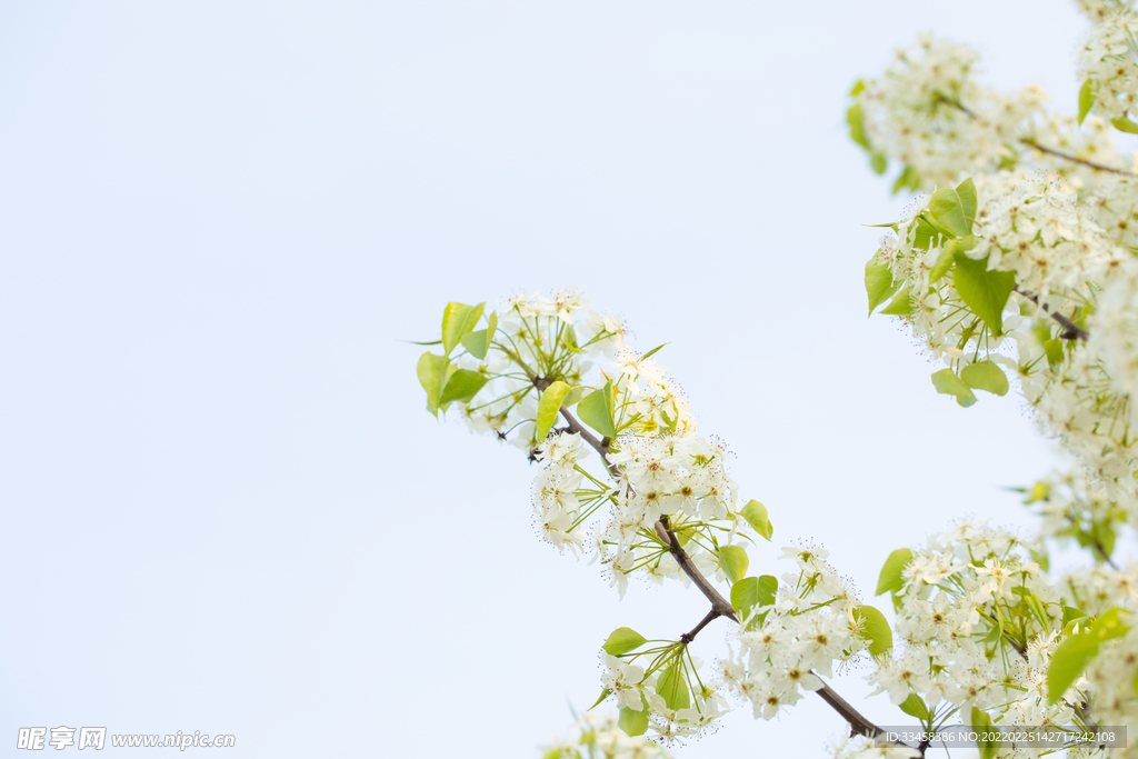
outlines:
M756 719L772 719L817 691L835 661L866 646L859 636L863 607L827 555L813 545L783 548L781 559L794 561L798 571L783 575L770 604L750 609L735 634L739 647L719 661L716 685L749 701Z

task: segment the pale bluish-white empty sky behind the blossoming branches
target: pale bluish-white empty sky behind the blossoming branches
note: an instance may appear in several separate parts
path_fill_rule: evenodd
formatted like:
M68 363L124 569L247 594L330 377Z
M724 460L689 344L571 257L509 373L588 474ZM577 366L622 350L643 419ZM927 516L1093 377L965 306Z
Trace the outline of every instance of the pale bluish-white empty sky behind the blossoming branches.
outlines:
M398 339L447 300L577 284L670 343L770 510L752 572L813 536L869 600L956 517L1030 530L999 488L1052 454L1019 403L959 409L865 316L861 224L904 201L846 94L935 30L1071 112L1085 26L1034 0L0 5L0 744L535 756L611 629L691 628L695 591L618 602L535 538L523 456L423 412ZM908 721L861 674L836 690ZM810 696L676 754L841 731Z

